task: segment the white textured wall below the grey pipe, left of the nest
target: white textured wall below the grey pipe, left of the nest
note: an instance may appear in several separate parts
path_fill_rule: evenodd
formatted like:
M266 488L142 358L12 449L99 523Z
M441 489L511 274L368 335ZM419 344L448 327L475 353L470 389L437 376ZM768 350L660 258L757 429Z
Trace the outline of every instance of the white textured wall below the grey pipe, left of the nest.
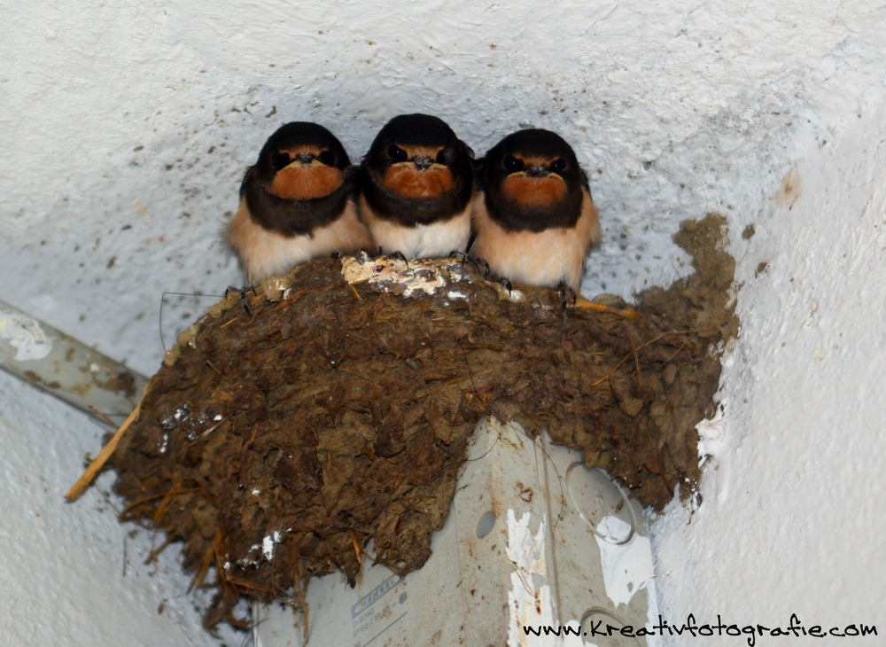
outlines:
M64 502L104 430L2 371L0 394L0 644L240 644L229 629L213 636L200 627L195 604L207 597L185 592L177 550L144 565L164 537L120 525L112 475Z

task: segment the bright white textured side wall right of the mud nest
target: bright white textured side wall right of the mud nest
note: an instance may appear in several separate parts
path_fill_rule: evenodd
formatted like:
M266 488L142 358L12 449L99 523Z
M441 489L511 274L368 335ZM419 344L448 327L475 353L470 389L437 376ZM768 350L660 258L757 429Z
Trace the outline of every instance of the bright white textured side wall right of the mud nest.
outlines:
M673 620L773 628L796 613L805 628L877 624L859 644L886 634L886 87L862 90L882 73L857 63L822 79L819 123L798 129L795 172L742 255L704 503L654 526Z

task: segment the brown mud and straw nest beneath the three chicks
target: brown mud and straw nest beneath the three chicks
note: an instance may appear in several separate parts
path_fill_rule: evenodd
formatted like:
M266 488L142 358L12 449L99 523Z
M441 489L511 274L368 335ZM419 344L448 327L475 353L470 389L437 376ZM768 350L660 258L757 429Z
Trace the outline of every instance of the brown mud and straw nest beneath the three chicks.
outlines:
M248 310L232 294L167 355L112 457L124 516L183 541L195 582L214 567L212 625L241 596L353 583L367 550L422 566L481 417L547 429L661 510L696 486L695 425L736 330L723 227L684 223L696 273L630 309L509 299L458 260L311 261Z

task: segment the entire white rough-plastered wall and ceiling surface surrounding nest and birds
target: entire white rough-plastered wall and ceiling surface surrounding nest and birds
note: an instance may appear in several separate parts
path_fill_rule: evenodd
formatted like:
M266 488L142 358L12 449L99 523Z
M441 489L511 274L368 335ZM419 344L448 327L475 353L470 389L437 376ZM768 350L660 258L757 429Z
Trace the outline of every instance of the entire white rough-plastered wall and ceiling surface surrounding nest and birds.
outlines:
M239 283L219 232L284 121L322 122L354 159L400 112L444 116L478 153L521 124L559 130L604 227L587 292L684 275L684 218L719 210L733 232L742 339L705 503L655 525L664 616L796 611L882 634L884 22L876 0L4 7L0 299L150 374L162 292ZM789 209L775 196L792 168ZM166 304L168 343L206 300ZM61 503L97 427L12 378L0 394L0 573L20 592L0 635L216 643L173 553L162 577L138 566L150 537L117 525L108 477Z

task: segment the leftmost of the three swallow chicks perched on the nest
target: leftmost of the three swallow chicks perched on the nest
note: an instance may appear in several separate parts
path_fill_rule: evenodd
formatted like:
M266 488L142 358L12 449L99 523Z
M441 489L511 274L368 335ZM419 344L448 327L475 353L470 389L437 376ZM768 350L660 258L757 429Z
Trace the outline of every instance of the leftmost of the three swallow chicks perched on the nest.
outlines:
M294 121L278 129L246 170L228 229L250 285L330 253L372 249L357 217L356 169L329 130Z

